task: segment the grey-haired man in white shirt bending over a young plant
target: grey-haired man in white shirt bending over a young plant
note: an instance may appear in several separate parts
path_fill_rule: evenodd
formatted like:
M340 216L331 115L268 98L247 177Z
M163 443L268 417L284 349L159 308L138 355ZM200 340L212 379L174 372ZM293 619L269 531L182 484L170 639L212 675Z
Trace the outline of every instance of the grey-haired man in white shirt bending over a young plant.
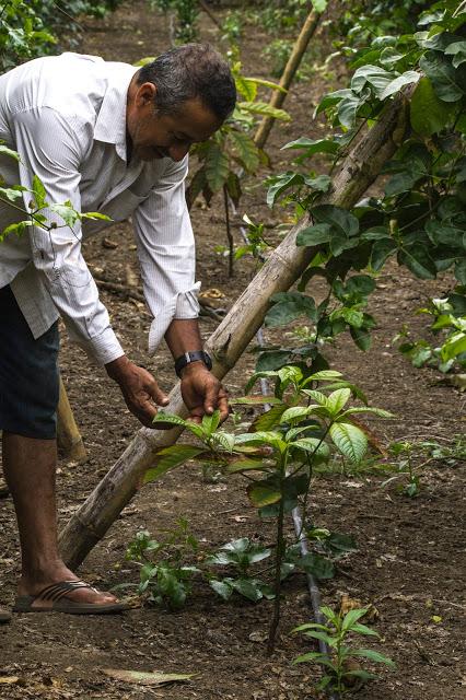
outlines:
M0 158L3 180L31 188L36 174L48 202L70 200L78 211L100 211L114 221L131 214L154 316L149 350L165 338L185 404L198 421L215 408L224 419L228 399L202 352L184 179L189 147L208 139L234 103L228 65L202 45L173 49L140 70L63 54L0 77L0 139L21 155L19 165ZM32 195L23 194L30 211ZM0 244L0 429L22 549L15 609L114 612L121 604L79 582L57 548L58 317L119 384L143 425L152 424L167 397L124 353L81 255L82 235L108 223L71 230L54 211L43 213L56 228L35 225ZM0 202L0 230L24 219Z

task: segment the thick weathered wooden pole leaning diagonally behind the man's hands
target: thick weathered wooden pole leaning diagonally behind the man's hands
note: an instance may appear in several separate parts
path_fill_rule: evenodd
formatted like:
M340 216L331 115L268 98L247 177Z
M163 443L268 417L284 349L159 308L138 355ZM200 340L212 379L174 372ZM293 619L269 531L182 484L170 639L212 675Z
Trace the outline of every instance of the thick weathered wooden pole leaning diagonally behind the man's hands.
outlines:
M350 208L359 201L404 137L407 104L404 96L398 96L375 126L360 137L337 168L331 190L319 200L322 203ZM307 225L308 219L305 218L293 228L206 343L213 357L213 373L219 378L235 365L261 326L271 295L288 290L312 259L313 249L295 244L296 234ZM186 416L179 384L171 393L166 410ZM173 444L179 434L176 429L155 431L142 428L138 431L61 533L60 547L69 565L79 565L102 539L138 490L145 470L155 464L158 450Z

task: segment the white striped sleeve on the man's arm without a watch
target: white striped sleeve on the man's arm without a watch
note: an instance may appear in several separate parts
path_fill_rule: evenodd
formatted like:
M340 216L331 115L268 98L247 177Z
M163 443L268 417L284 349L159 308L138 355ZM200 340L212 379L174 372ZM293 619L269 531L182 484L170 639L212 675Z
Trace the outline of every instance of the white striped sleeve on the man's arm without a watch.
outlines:
M44 184L47 202L70 200L81 211L79 165L85 155L82 144L89 142L89 125L78 118L57 113L49 107L33 108L12 117L16 148L21 153L20 180L32 188L33 176ZM24 192L27 211L33 195ZM46 288L67 326L71 339L78 342L98 364L124 354L109 323L107 310L98 299L98 290L81 254L81 225L73 229L50 209L47 230L39 225L30 229L31 249L35 268L43 276Z

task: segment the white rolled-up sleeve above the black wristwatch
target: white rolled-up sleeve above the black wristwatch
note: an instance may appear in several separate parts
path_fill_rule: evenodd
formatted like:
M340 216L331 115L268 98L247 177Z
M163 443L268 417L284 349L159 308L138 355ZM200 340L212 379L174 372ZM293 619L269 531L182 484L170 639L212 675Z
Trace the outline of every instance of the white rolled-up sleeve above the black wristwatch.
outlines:
M199 314L196 256L185 200L187 156L167 167L133 214L145 300L153 315L149 352L153 354L174 318Z

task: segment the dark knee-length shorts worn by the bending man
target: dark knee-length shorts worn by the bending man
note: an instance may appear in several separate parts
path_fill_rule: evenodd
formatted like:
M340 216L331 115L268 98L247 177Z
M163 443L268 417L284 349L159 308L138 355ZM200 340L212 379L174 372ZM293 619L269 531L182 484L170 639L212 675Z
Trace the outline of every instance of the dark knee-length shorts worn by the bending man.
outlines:
M58 348L58 323L35 340L10 287L0 289L0 430L56 436Z

